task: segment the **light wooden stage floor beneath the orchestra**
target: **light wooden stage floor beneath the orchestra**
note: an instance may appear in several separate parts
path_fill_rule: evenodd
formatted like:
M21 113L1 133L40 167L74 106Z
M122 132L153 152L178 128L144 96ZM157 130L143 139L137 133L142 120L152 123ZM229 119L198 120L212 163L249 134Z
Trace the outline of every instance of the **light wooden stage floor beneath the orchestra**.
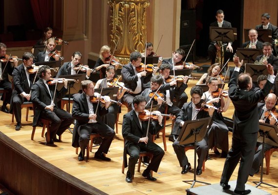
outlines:
M189 80L189 87L186 89L186 93L189 95L189 91L197 81ZM119 117L119 133L116 135L110 147L108 157L112 159L111 162L103 162L94 159L94 153L90 153L90 159L86 161L78 161L78 155L75 154L75 148L71 146L72 134L67 130L62 135L62 142L55 143L55 146L46 146L45 138L41 137L41 127L37 127L34 140L31 140L32 132L32 120L33 117L29 117L28 121L24 121L25 108L22 109L22 128L20 131L15 131L16 123L11 122L11 115L0 112L0 131L8 137L12 138L20 145L30 150L37 156L40 156L44 160L60 168L61 170L69 173L72 176L79 178L80 180L98 188L99 190L110 195L184 195L185 190L190 188L190 184L182 182L182 180L193 179L193 173L187 173L181 175L181 167L179 167L178 159L174 153L172 142L168 140L168 136L171 132L171 127L166 128L166 142L167 151L162 159L159 167L159 172L154 173L157 178L156 182L146 180L141 176L144 167L141 167L141 173L135 172L135 178L133 183L125 182L125 174L121 173L122 165L122 153L123 153L123 138L121 136L121 123L122 116L126 113L126 108L122 108L122 113ZM229 110L224 113L226 117L232 117L234 112L233 105L230 105ZM29 115L33 112L30 111ZM170 121L168 121L170 124ZM229 133L229 144L231 146L232 133ZM161 137L158 138L156 143L163 148ZM1 154L4 155L4 154ZM194 164L194 152L190 150L187 152L189 162ZM222 173L224 158L216 156L210 151L212 160L208 160L205 163L205 171L201 176L197 176L197 180L209 182L212 184L219 183ZM264 182L278 185L278 153L274 153L271 157L270 174L263 175ZM251 165L250 165L251 166ZM137 167L136 167L137 170ZM126 173L127 169L125 169ZM266 169L264 168L264 173ZM237 179L238 166L231 177L231 180ZM255 186L252 181L258 181L260 174L254 177L248 178L248 184ZM200 183L196 183L195 187L202 186ZM265 185L259 187L259 189L265 190L273 195L278 195L278 188L272 188Z

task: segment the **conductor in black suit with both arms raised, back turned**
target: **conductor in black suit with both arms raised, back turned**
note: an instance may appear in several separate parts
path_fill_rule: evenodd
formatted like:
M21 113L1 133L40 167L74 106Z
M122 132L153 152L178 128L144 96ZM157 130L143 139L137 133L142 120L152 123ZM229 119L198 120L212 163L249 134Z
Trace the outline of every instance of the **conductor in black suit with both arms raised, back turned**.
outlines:
M267 64L268 81L262 90L254 92L251 90L252 78L248 74L239 75L243 60L240 61L238 57L235 57L234 63L236 68L229 82L229 97L235 106L233 141L232 148L228 152L224 164L220 185L225 190L231 187L228 181L241 158L237 186L234 192L247 195L251 190L245 190L245 183L247 182L251 168L250 164L255 154L259 129L257 104L269 93L275 81L275 76L273 66Z

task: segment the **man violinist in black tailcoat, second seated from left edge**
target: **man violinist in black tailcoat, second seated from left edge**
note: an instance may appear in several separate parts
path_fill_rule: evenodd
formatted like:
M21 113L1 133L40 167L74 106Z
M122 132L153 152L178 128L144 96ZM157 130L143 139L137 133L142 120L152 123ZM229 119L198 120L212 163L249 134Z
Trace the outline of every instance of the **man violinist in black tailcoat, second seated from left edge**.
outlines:
M22 56L22 63L14 68L13 81L14 90L11 98L10 113L14 113L17 121L16 131L21 128L21 105L24 101L31 99L30 90L36 74L28 73L28 68L32 67L34 56L30 52L25 52Z

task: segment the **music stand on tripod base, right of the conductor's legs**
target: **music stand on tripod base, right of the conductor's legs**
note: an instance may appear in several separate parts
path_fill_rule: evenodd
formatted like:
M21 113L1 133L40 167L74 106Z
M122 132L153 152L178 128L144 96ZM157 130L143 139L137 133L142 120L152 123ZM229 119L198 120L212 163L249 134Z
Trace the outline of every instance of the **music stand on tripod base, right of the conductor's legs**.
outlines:
M258 131L258 142L262 143L262 152L261 152L261 167L260 167L260 180L253 181L253 183L257 184L256 188L260 186L260 184L265 184L274 188L277 186L271 185L269 183L262 181L263 176L263 156L264 156L264 144L270 144L273 146L278 146L278 128L275 125L270 125L267 123L259 123L259 131Z

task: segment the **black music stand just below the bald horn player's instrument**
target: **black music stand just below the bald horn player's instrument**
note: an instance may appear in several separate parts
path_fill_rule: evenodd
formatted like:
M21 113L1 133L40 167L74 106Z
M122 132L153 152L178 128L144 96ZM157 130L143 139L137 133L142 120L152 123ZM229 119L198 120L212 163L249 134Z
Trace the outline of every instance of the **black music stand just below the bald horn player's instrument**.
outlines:
M238 48L237 57L243 59L243 63L254 63L257 56L262 54L261 49Z

